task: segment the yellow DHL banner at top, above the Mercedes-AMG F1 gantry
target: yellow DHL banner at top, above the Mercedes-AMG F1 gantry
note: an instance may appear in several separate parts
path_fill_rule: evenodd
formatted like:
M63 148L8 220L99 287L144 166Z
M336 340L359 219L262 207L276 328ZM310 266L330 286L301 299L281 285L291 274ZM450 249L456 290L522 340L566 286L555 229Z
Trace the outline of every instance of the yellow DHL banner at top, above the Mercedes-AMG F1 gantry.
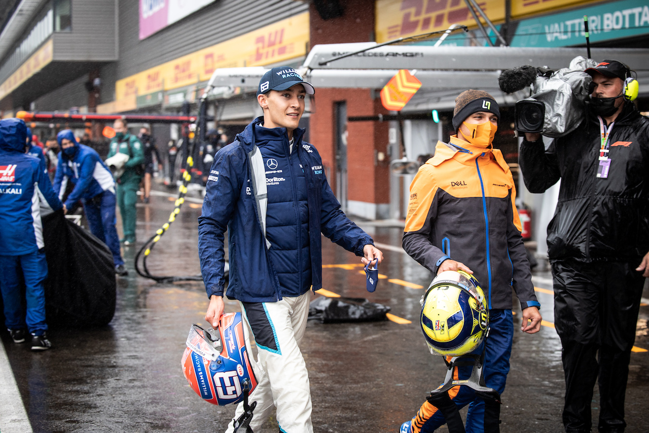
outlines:
M511 18L598 0L512 0ZM505 20L504 0L477 0L491 22ZM452 24L477 27L464 0L376 0L376 42L443 31Z

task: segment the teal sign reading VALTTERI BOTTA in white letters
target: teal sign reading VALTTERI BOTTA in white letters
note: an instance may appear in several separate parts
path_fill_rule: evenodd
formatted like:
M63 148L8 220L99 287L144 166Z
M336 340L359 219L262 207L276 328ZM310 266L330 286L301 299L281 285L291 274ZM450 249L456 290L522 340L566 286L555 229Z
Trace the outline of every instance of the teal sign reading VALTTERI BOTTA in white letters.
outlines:
M622 0L519 22L512 47L584 45L583 16L588 16L591 43L649 34L646 0Z

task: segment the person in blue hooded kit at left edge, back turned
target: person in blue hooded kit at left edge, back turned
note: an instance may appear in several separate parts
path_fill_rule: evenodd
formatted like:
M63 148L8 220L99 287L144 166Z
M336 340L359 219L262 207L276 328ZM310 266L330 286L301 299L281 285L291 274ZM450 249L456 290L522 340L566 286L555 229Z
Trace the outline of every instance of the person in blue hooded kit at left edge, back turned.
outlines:
M49 349L45 322L47 262L41 209L60 210L38 158L25 154L27 126L21 119L0 120L0 288L5 325L15 343L31 333L32 350ZM21 280L27 311L23 311Z

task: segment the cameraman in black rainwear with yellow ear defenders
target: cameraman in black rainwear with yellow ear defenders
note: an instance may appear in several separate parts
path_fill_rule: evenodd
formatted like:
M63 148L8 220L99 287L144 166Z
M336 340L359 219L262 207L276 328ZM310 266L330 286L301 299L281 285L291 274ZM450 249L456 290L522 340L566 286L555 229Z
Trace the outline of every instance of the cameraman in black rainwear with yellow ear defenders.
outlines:
M599 376L598 429L623 432L631 347L649 277L649 119L630 102L627 66L604 60L585 72L594 86L586 118L547 150L540 134L526 133L519 162L530 192L543 193L561 178L547 241L563 345L565 431L591 431Z

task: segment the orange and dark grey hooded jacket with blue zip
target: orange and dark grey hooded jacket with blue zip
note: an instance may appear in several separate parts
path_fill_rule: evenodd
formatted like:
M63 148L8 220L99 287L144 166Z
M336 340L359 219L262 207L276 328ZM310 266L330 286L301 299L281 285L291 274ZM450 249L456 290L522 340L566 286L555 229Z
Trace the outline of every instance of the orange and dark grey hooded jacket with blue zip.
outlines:
M437 142L410 184L404 250L434 275L447 258L471 268L490 309L511 309L512 288L521 308L539 307L515 199L498 149Z

